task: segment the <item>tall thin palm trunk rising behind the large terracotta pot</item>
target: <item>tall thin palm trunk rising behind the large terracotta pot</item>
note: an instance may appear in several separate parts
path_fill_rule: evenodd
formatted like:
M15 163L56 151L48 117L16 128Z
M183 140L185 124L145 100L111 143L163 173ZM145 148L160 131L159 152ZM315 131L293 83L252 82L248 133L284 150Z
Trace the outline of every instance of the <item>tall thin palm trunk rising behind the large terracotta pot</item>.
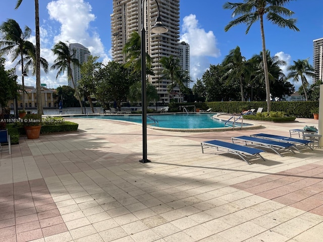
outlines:
M17 0L15 9L18 9L23 0ZM35 29L36 29L36 103L37 113L42 114L41 85L40 85L40 31L39 31L39 4L35 0Z

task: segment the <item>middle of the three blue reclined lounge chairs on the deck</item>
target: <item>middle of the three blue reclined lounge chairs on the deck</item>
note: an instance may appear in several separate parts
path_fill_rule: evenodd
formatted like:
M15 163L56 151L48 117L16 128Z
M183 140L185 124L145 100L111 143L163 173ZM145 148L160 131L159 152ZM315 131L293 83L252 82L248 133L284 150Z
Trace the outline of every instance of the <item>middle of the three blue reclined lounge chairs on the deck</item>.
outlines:
M232 137L232 142L238 142L238 143L244 143L245 145L247 144L252 144L255 146L260 146L260 147L265 147L268 149L271 149L275 153L277 153L280 156L283 156L279 151L280 150L290 150L295 154L295 152L291 149L294 144L286 143L286 142L278 142L275 140L266 140L262 138L255 138L255 137L250 137L250 136L239 136L239 137Z

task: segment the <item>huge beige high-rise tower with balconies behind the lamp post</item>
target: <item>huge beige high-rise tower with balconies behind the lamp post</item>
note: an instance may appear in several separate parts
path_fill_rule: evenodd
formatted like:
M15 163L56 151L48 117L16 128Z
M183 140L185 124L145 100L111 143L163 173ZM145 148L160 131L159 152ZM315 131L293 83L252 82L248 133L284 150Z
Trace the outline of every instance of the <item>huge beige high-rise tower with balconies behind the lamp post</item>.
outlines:
M112 56L114 61L126 63L126 55L122 49L132 32L141 32L142 0L113 0L113 14L111 15ZM150 31L157 17L155 1L145 1L145 29L146 52L152 58L152 70L155 76L149 76L149 81L156 87L159 102L169 103L170 98L178 98L179 89L169 93L170 80L162 79L162 67L159 64L161 57L179 57L179 5L180 0L158 0L160 17L163 24L169 29L165 34L154 34Z

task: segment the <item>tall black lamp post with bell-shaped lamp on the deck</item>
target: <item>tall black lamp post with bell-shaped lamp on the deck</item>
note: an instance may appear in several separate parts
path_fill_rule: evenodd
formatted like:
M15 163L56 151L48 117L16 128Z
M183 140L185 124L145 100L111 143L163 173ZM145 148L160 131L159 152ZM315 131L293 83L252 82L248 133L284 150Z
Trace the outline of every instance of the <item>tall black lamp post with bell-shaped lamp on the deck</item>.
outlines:
M148 0L149 1L149 0ZM159 5L157 0L157 18L155 25L151 28L152 33L163 34L168 32L168 29L161 23L159 16ZM139 160L141 163L150 162L147 159L147 106L146 106L146 29L144 24L145 19L145 3L146 0L142 0L141 5L141 106L142 106L142 159Z

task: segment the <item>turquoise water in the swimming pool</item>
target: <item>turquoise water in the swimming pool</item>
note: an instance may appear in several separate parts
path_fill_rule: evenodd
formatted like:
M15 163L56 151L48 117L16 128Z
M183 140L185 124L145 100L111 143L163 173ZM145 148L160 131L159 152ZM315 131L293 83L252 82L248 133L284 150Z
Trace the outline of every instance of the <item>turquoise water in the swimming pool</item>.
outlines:
M147 116L147 125L158 126L160 128L171 129L211 129L225 128L225 123L217 118L212 118L214 113L175 113L175 114L150 114ZM150 117L158 121L154 124ZM74 116L86 118L101 118L123 120L141 124L141 114L139 115L87 115Z

